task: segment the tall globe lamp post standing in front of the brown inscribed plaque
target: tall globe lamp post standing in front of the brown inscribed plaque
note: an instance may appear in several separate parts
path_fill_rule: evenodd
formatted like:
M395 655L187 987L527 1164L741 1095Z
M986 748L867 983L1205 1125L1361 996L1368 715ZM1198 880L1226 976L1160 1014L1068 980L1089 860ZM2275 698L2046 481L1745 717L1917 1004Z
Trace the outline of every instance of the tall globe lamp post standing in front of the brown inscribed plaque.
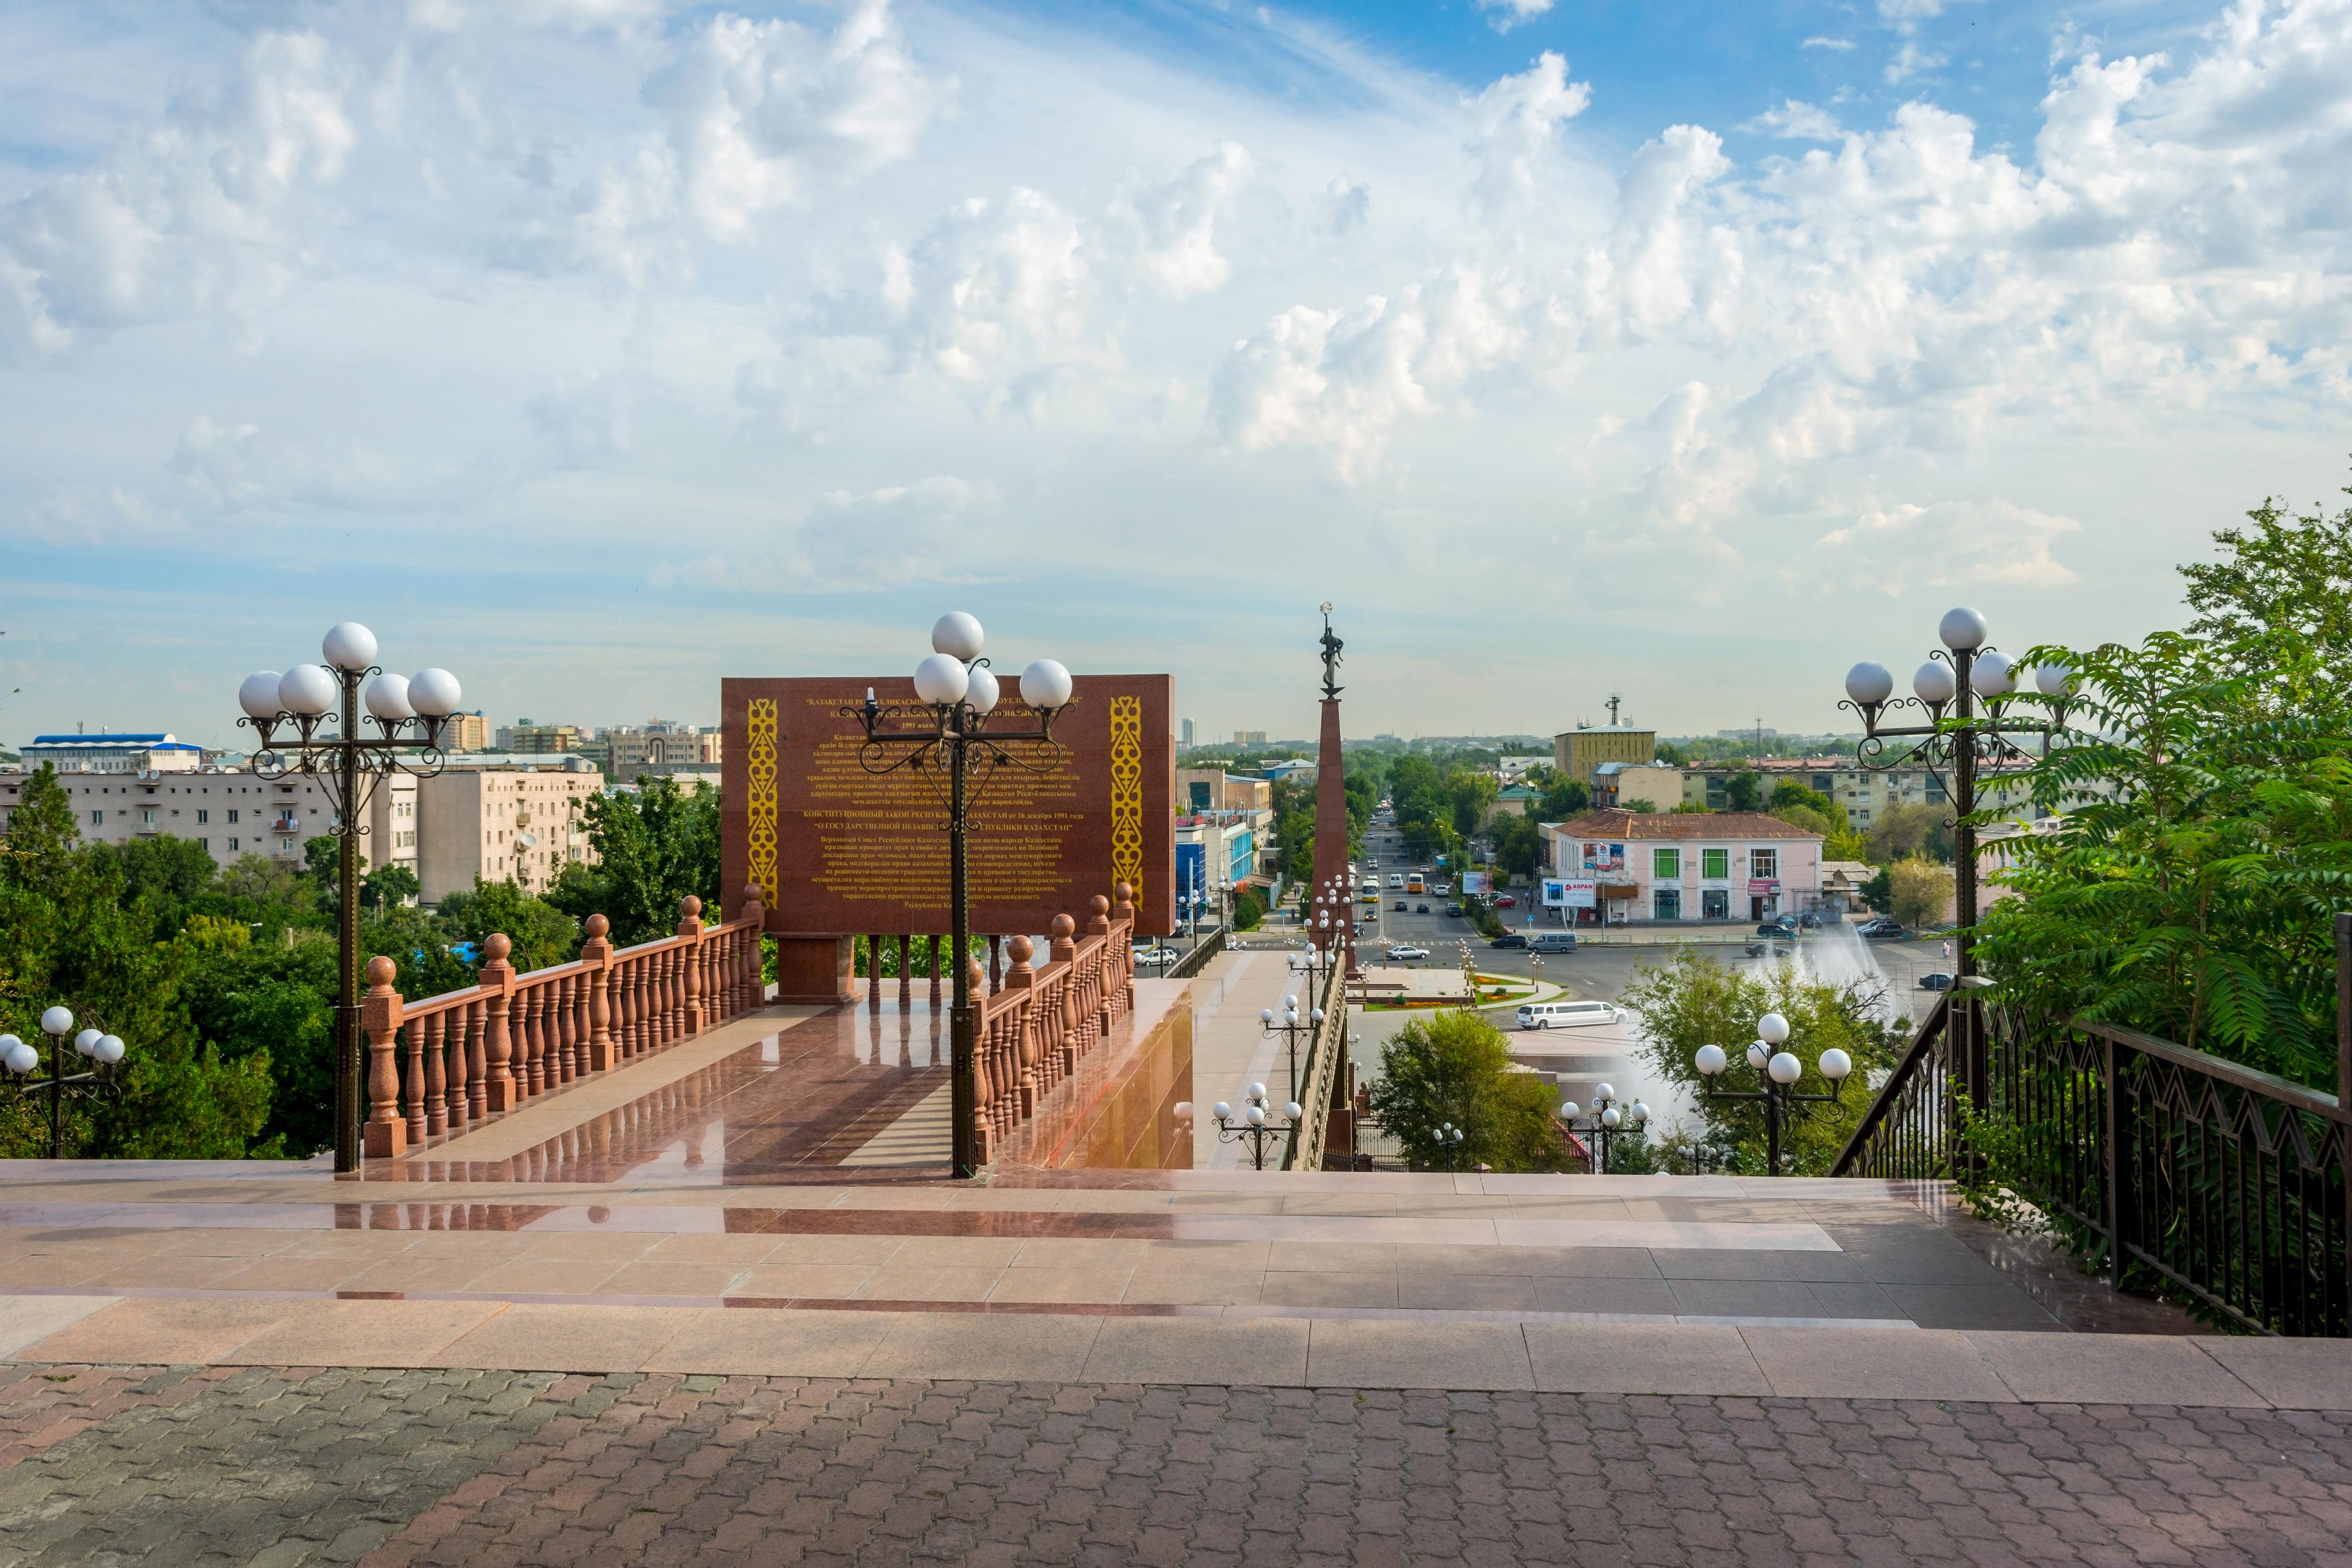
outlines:
M931 628L931 656L915 665L917 701L877 703L868 686L861 708L840 710L866 729L858 764L868 773L917 773L948 809L948 917L955 943L948 1105L953 1173L960 1180L981 1173L981 1105L971 1081L971 966L964 961L971 952L969 813L997 769L1049 773L1061 764L1054 715L1070 703L1070 672L1040 658L1021 672L1021 708L1035 719L1035 729L990 729L1002 689L981 658L981 623L964 611L948 611Z

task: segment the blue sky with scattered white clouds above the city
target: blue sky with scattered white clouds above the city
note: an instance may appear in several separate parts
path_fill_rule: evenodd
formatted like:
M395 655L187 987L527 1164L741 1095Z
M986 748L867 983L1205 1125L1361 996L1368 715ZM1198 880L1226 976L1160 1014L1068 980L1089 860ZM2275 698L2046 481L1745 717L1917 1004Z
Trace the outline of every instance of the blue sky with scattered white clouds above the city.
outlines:
M0 743L1171 670L1849 729L2352 451L2352 0L9 0ZM2333 510L2333 508L2331 508Z

